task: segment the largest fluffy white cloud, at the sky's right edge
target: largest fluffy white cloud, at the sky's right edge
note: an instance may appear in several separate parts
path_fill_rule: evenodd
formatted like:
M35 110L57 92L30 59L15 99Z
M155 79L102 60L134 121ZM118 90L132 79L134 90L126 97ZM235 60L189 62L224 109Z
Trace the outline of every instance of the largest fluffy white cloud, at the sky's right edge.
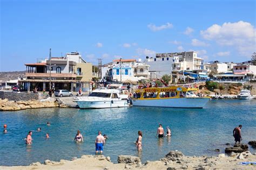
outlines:
M251 56L256 48L256 29L251 23L214 24L207 30L200 31L201 36L213 40L221 46L234 46L241 55Z

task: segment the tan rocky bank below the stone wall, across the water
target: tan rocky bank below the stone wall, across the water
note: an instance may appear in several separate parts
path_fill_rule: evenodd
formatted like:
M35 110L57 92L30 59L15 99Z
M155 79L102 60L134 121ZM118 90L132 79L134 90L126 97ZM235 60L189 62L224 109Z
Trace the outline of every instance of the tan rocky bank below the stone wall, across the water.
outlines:
M47 100L28 100L28 101L9 101L8 99L0 99L1 111L23 110L23 109L36 109L36 108L53 108L65 107L58 104L56 98L48 98Z

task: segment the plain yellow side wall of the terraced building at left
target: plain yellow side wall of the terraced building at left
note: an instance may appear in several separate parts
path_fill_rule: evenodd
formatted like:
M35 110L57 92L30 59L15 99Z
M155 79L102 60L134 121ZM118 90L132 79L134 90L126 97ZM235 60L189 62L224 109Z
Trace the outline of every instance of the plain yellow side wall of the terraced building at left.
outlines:
M75 66L75 73L77 73L77 68L82 68L82 76L77 75L76 80L80 81L91 81L92 80L92 63L77 63Z

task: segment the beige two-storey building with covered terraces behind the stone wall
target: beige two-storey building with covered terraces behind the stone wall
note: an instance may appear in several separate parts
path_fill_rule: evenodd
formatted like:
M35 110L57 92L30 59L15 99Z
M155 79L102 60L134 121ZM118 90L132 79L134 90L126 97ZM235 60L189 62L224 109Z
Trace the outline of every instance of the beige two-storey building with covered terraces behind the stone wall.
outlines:
M52 57L37 63L26 63L26 80L19 80L21 88L38 91L50 88L70 91L90 90L92 65L78 52L67 53L64 57ZM51 87L50 87L51 84Z

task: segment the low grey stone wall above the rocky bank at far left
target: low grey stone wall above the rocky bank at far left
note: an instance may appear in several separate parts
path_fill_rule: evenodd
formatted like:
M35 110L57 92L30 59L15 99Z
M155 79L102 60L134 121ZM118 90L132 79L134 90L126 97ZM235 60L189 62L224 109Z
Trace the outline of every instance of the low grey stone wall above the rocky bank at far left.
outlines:
M16 91L0 91L0 98L8 98L9 101L38 100L38 93L17 93Z

